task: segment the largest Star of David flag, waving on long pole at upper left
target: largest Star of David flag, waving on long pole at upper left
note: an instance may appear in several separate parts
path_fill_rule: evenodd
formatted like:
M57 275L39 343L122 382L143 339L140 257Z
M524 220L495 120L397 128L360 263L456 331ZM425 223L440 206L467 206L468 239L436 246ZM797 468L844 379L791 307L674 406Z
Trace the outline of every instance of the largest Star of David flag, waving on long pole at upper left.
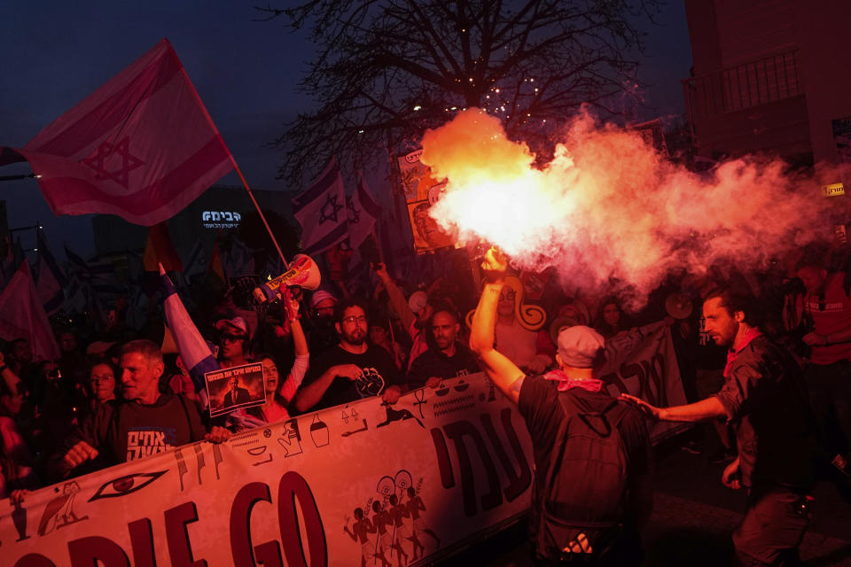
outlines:
M17 151L55 214L117 214L146 226L233 167L166 39Z

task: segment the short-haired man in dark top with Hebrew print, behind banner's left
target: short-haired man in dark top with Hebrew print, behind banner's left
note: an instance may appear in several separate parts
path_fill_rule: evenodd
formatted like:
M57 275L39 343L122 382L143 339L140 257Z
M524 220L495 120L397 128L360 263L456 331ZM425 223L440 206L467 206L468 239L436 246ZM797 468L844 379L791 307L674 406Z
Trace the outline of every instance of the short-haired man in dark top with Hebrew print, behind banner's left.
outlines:
M230 431L223 427L213 427L207 433L193 402L171 392L160 393L164 368L156 343L134 340L121 349L123 400L101 404L74 431L66 443L70 448L59 456L54 471L57 476L66 477L90 460L97 459L96 468L104 468L192 441L221 442L230 437Z

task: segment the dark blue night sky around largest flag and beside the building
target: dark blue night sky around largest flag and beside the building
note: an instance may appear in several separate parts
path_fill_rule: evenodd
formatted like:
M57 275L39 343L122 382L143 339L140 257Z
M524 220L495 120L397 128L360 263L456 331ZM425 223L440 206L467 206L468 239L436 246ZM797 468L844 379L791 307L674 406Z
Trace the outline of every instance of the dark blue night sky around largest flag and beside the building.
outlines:
M0 145L27 144L167 37L252 188L299 189L275 180L280 152L264 145L310 107L296 83L313 50L283 21L255 21L260 16L254 5L208 0L4 3ZM683 113L680 80L691 66L682 0L670 0L656 21L641 26L648 34L639 72L648 85L639 93L646 106L641 118L647 120ZM0 167L0 175L29 172L26 163ZM238 179L231 174L220 183L236 185ZM10 228L41 222L60 259L65 242L84 257L94 253L90 216L55 217L35 180L0 183L0 199L7 201ZM25 248L35 245L32 231L18 234L24 235Z

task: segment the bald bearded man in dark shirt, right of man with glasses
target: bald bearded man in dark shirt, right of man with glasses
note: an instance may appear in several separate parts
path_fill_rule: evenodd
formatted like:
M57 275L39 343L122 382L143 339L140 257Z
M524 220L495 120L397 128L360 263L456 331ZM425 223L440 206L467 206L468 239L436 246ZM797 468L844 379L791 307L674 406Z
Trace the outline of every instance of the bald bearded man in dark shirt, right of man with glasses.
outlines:
M479 363L465 345L457 341L461 325L450 307L436 307L426 328L428 350L410 365L405 385L409 390L437 387L441 380L479 371Z

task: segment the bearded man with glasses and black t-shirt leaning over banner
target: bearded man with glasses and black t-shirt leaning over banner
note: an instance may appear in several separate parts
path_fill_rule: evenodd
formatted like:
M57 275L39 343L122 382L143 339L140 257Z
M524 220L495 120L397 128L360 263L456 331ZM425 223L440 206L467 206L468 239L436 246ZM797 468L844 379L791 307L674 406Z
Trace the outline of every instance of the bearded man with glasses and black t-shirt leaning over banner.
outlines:
M346 299L334 307L334 321L340 343L311 357L295 396L296 410L331 408L379 393L394 404L401 392L394 385L398 370L390 353L366 342L366 310L356 299Z

